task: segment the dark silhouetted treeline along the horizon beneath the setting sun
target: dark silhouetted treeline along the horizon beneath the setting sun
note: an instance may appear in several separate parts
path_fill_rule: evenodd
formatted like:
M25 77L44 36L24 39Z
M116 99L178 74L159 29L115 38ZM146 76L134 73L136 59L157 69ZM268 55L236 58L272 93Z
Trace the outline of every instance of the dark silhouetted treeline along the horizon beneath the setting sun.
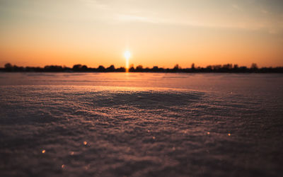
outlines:
M87 67L86 65L75 64L74 67L62 67L57 65L48 65L45 67L18 67L10 63L5 64L4 68L0 67L0 72L126 72L125 67L115 68L114 65L110 67L103 67L100 65L98 68ZM239 67L238 64L218 64L209 65L207 67L195 67L192 64L190 68L181 68L178 64L172 69L161 67L142 67L138 65L134 68L132 65L129 72L183 72L183 73L197 73L197 72L216 72L216 73L283 73L283 67L262 67L253 63L250 67Z

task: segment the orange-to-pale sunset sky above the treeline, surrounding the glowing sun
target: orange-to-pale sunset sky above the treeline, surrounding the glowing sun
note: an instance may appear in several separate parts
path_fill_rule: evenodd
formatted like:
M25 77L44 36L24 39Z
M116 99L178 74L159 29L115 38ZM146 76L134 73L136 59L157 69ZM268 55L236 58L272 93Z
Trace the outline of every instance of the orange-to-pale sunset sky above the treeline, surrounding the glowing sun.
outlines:
M0 66L283 66L281 0L0 0Z

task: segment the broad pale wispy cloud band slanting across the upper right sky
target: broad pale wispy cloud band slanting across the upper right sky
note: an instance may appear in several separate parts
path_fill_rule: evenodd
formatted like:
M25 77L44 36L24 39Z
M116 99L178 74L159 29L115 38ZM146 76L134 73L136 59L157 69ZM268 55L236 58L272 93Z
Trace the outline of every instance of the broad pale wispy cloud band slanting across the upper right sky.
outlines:
M162 5L159 8L149 6L149 1L144 2L146 6L138 6L137 1L98 1L98 0L81 0L94 11L102 11L98 18L106 19L106 23L152 23L160 25L185 25L197 28L227 28L239 30L265 30L268 33L280 33L283 30L279 24L278 18L272 18L272 14L265 8L244 6L235 1L227 3L236 11L221 9L216 11L214 7L207 8L198 4L202 8L200 14L196 11L183 11L180 4L175 4L175 11L170 6ZM180 8L180 12L176 9ZM238 14L241 11L241 14ZM258 13L258 14L257 14ZM264 18L259 18L260 14ZM272 20L271 20L272 19Z

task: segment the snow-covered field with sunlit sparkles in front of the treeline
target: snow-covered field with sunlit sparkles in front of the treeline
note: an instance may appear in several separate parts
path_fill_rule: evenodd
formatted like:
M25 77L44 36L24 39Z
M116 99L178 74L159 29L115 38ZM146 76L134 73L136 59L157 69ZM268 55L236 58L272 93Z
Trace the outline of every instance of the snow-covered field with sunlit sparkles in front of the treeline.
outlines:
M283 74L0 73L0 176L282 176Z

